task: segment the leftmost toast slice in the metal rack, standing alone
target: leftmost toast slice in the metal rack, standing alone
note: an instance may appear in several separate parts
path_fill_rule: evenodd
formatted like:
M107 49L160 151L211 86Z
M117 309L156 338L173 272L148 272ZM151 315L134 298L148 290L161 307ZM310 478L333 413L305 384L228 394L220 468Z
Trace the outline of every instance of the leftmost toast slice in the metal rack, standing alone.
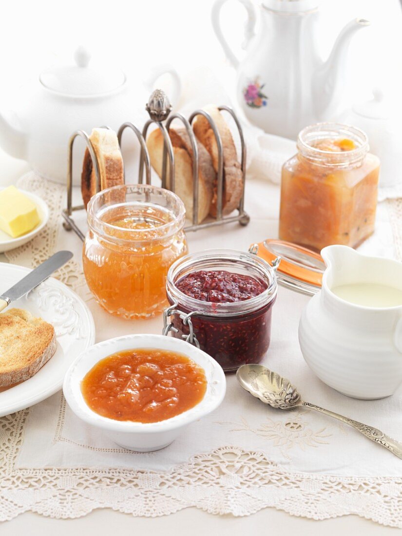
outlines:
M110 129L93 129L90 140L99 163L101 190L124 184L123 158L116 132ZM96 193L95 169L88 149L85 150L81 173L81 192L86 208Z

